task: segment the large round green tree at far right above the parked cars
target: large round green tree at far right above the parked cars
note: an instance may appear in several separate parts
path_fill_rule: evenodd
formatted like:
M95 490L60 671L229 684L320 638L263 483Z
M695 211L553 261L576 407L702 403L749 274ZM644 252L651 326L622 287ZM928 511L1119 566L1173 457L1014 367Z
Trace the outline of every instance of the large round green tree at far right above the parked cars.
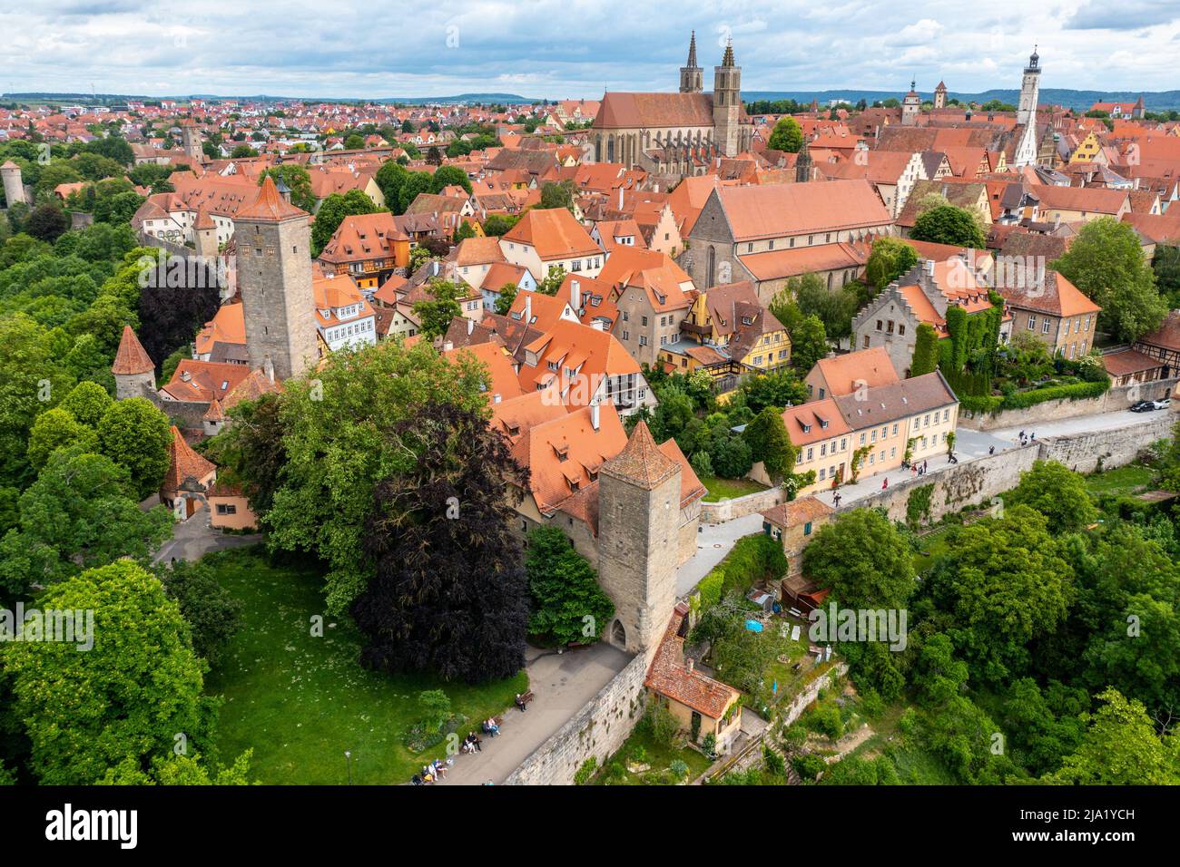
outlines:
M1114 217L1086 223L1069 250L1049 267L1102 308L1100 327L1121 341L1129 343L1155 330L1167 315L1155 274L1129 223Z

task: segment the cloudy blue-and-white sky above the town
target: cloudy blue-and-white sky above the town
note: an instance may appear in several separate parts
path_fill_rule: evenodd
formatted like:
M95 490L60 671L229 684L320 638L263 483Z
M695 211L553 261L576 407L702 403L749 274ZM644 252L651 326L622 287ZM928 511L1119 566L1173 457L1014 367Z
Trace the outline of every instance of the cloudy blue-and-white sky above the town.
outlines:
M1180 88L1180 0L0 0L0 90L597 98L674 90L688 34L745 91Z

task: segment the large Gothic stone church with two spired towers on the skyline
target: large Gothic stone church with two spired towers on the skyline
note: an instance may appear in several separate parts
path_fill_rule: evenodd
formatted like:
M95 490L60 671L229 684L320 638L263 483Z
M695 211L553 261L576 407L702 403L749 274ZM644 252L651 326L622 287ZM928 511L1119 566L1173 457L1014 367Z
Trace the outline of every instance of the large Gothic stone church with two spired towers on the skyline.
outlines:
M677 93L603 96L590 127L595 160L682 178L706 173L713 159L748 151L754 124L742 105L741 67L732 44L714 67L713 92L702 93L703 84L693 33Z

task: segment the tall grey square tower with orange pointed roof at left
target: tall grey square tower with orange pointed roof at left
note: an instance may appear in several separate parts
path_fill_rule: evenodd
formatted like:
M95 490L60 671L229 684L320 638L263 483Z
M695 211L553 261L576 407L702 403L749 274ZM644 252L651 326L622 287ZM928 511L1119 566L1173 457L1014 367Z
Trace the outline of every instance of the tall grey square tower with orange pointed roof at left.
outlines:
M267 176L253 205L234 217L237 287L251 367L274 379L302 376L319 360L307 211Z

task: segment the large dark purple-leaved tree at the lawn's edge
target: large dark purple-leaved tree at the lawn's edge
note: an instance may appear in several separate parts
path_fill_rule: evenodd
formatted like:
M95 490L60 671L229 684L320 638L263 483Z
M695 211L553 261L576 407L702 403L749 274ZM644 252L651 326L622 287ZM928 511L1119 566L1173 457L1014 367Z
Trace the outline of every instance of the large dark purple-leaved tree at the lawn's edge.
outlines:
M529 583L512 508L527 484L473 412L427 405L398 426L413 472L376 485L365 553L376 565L352 606L362 664L468 683L524 668Z

